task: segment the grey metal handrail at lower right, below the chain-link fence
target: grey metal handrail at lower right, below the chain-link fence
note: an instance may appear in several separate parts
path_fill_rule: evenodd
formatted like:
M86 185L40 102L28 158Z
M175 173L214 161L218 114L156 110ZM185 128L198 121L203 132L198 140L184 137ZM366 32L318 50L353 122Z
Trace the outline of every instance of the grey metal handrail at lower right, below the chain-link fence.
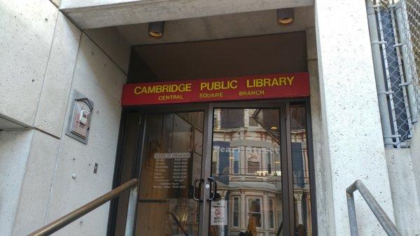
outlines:
M353 193L358 190L360 195L362 195L365 202L372 210L374 216L378 219L379 223L384 228L385 232L389 236L402 236L400 232L398 232L397 227L391 221L391 218L385 213L384 209L381 208L377 200L374 199L372 193L366 188L362 181L356 180L354 183L346 189L347 195L347 208L349 209L349 221L350 221L350 235L351 236L358 236L358 229L357 229L357 219L356 219L356 207L354 204L354 196Z

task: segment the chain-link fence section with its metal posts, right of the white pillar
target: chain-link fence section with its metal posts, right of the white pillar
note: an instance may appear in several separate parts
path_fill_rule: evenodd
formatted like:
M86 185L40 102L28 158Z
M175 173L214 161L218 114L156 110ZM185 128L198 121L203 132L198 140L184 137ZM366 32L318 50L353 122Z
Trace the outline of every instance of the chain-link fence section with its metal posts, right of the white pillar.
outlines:
M366 3L384 143L406 148L420 108L420 0Z

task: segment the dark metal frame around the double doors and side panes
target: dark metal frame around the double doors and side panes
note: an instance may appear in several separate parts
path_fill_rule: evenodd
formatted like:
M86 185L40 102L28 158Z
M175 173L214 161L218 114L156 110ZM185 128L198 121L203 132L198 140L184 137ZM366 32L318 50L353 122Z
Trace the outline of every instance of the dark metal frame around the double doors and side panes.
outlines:
M199 221L199 235L209 235L209 214L210 204L206 199L209 197L210 189L204 188L209 183L207 177L211 176L211 158L212 158L212 141L213 141L213 120L214 109L247 109L247 108L266 108L279 109L280 111L280 129L286 132L280 132L281 140L281 172L282 174L282 190L283 193L283 235L294 235L294 217L295 212L293 208L293 169L291 156L291 134L290 134L290 103L302 103L306 108L307 113L307 145L309 155L309 178L310 178L310 193L311 193L311 223L312 235L317 236L317 217L316 217L316 190L315 190L315 174L314 174L314 160L313 160L313 143L311 133L311 117L309 98L301 99L269 99L269 100L247 100L237 102L207 102L195 104L169 104L169 105L151 105L151 106L133 106L123 109L122 119L120 123L120 137L118 140L116 170L114 172L113 187L120 185L120 164L122 163L122 154L125 139L125 119L127 113L138 111L141 114L141 127L139 132L139 142L137 148L137 158L135 160L136 167L133 178L141 176L141 163L144 161L142 153L144 151L144 135L146 133L146 117L148 113L175 113L175 112L190 112L190 111L204 111L204 126L203 126L203 153L202 153L202 184L201 196L203 202L200 203L200 221ZM139 181L140 184L140 181ZM140 187L140 186L139 186ZM116 210L118 207L118 199L111 202L109 224L107 235L115 234ZM137 211L137 208L136 208ZM137 212L136 212L137 217ZM134 222L136 222L134 220ZM132 229L135 232L135 224ZM134 235L134 234L133 234Z

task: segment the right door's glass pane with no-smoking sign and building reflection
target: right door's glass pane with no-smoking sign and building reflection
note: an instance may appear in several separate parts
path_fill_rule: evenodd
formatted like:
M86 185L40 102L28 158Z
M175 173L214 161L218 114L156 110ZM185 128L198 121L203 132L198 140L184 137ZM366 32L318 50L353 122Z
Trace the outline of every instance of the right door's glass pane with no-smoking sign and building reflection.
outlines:
M214 109L211 177L217 193L209 206L209 236L286 235L280 116L280 108Z

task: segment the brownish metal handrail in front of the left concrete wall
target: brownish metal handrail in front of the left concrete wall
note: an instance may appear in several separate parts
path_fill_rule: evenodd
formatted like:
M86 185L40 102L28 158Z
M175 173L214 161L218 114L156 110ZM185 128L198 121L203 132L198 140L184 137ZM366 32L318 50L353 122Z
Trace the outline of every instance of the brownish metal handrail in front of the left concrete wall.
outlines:
M101 197L98 197L92 202L89 202L83 205L83 207L79 207L78 209L71 211L69 214L62 216L56 221L52 221L48 225L45 225L42 228L32 232L28 236L51 235L52 233L64 228L64 226L68 225L69 223L73 221L76 221L78 218L84 216L90 211L93 211L94 209L97 209L98 207L105 204L106 202L109 202L110 200L117 197L118 195L120 195L121 193L123 193L125 190L129 188L131 188L131 190L130 190L130 200L128 204L126 223L128 227L132 228L132 225L134 224L134 214L135 214L134 207L135 207L135 203L137 202L137 183L138 182L139 181L137 179L132 179L130 181L127 181L126 183L123 183L117 188L114 188L113 190L102 195ZM130 228L127 228L127 229L130 229ZM132 230L125 230L125 235L132 235Z

